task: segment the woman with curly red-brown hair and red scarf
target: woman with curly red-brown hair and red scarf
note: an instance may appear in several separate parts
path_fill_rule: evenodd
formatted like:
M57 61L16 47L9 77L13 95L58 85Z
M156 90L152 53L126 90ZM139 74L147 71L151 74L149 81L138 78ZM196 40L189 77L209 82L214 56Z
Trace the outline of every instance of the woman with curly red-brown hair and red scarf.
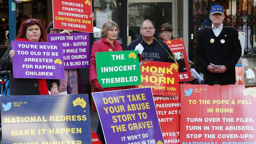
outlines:
M42 26L40 20L34 18L27 19L22 22L19 34L15 41L44 42L46 41L46 30ZM11 50L10 45L4 56L0 59L0 67L3 70L11 70L11 96L49 94L48 89L50 89L52 94L59 94L59 79L50 79L46 81L46 79L13 78L13 57L15 57L15 51ZM48 86L46 83L48 83Z

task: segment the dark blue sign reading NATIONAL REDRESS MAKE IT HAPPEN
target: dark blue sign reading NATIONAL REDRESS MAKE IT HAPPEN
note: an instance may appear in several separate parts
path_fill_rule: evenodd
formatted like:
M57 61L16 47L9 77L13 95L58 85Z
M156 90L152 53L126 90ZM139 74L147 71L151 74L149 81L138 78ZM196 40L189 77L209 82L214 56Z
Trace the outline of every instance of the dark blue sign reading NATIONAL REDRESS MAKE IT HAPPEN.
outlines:
M1 97L3 144L92 144L88 95Z

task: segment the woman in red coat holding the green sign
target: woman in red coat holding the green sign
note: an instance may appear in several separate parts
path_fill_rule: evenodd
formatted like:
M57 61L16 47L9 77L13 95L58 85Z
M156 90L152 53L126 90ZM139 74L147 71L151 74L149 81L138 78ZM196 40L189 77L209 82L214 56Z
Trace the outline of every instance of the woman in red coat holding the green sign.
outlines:
M91 57L90 57L91 62L89 65L89 75L90 75L90 81L93 84L95 92L134 88L133 86L126 86L126 87L109 87L109 88L103 89L97 79L95 53L122 51L122 47L120 46L120 43L116 40L118 34L119 34L119 28L116 22L112 20L108 20L104 22L104 24L102 24L102 28L100 31L100 35L102 38L99 41L94 42L93 47L91 48ZM139 57L139 59L141 61L141 57ZM106 144L102 127L100 124L100 120L98 121L96 133L100 137L102 144Z

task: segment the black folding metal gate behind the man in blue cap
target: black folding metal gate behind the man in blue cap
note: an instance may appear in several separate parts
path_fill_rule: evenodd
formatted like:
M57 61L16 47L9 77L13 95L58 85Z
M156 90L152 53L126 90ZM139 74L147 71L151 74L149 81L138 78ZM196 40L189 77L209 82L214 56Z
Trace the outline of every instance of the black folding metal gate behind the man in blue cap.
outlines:
M244 54L250 52L256 36L256 2L254 0L191 0L189 3L189 58L194 59L197 31L209 26L210 8L220 5L224 9L224 24L245 32Z

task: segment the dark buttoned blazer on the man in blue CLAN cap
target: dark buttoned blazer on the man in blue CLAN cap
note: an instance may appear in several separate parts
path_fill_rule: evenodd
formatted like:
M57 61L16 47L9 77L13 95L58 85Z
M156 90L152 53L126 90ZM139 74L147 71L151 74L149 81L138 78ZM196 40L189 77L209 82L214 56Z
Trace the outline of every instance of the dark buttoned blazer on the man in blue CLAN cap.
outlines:
M209 27L198 30L195 49L195 57L204 71L204 83L213 85L216 80L220 85L236 83L235 66L242 54L238 31L223 25L221 33L216 37L211 25ZM211 39L214 39L213 43ZM227 70L224 73L211 73L206 69L210 63L224 65Z

